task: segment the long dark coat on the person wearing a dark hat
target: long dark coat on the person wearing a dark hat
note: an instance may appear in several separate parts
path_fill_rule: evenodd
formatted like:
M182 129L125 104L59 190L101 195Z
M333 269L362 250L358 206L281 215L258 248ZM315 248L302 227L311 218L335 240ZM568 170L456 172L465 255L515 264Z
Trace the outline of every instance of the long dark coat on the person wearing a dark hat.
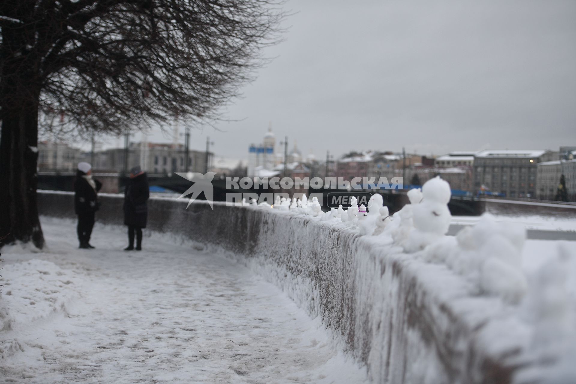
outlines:
M150 189L146 173L128 180L128 185L124 190L124 225L146 228L148 197L150 197Z

